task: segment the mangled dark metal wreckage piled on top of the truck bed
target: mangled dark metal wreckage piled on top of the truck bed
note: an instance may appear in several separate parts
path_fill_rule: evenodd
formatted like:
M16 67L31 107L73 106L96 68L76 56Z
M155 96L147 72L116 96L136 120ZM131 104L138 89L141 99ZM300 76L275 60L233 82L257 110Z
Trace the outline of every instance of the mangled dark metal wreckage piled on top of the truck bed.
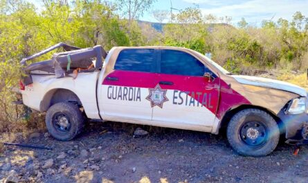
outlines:
M66 51L55 53L50 60L39 61L26 66L26 61L35 59L60 47L64 48ZM76 68L88 68L91 64L94 64L95 68L101 68L103 62L102 59L105 59L105 57L107 57L107 52L102 48L102 46L81 49L60 43L51 46L46 50L42 50L35 55L22 59L20 63L21 65L26 66L23 70L26 74L26 77L24 77L24 83L28 85L33 83L30 74L31 71L41 70L47 73L54 73L55 77L61 78L65 77L66 73L73 73L73 70Z

